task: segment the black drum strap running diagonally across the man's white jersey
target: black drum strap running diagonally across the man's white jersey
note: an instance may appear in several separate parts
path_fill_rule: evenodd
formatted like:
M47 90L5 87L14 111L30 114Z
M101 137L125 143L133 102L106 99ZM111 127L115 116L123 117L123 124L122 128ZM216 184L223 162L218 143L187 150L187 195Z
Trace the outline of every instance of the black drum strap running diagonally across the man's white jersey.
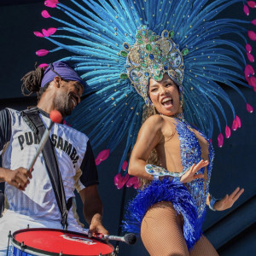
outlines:
M21 111L21 116L26 121L26 124L38 136L39 141L44 135L45 126L42 119L39 117L38 108L30 108ZM72 207L72 197L66 201L65 190L62 183L61 172L58 166L55 155L55 148L48 138L42 150L45 166L49 175L50 183L52 184L55 198L61 212L61 224L64 230L67 230L67 212Z

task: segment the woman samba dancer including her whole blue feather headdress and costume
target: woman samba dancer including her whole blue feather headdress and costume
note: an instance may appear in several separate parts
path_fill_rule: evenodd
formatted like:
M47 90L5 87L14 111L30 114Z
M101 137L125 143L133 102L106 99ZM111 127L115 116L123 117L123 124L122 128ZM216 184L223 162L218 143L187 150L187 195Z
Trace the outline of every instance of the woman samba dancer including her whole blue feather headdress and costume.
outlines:
M218 146L224 143L223 130L230 137L229 122L218 97L232 110L234 130L240 125L230 97L219 83L235 89L244 101L236 84L255 86L253 67L244 58L244 46L222 36L233 33L245 39L241 24L249 21L217 17L232 4L244 1L208 2L72 1L79 13L59 1L46 1L46 6L63 10L76 24L44 10L44 18L58 20L64 26L51 29L50 35L35 32L57 45L52 50L38 50L38 55L58 49L71 51L74 55L64 60L73 61L75 70L84 73L82 77L87 79L90 90L96 91L88 98L90 106L82 102L75 111L73 118L80 117L76 127L86 130L94 123L90 133L93 144L98 147L108 140L110 151L128 135L120 170L136 143L143 112L155 112L141 128L129 170L150 181L153 176L171 177L145 186L131 201L125 221L125 230L141 233L151 255L216 255L207 238L201 236L207 205L212 210L227 209L243 192L237 188L219 201L208 193L213 120L220 131ZM247 34L256 38L252 31ZM62 44L61 38L71 43ZM252 61L250 44L246 49ZM249 85L244 80L244 70ZM250 112L252 107L245 103ZM216 107L224 117L224 125ZM88 122L90 125L86 125ZM153 148L160 166L146 165Z

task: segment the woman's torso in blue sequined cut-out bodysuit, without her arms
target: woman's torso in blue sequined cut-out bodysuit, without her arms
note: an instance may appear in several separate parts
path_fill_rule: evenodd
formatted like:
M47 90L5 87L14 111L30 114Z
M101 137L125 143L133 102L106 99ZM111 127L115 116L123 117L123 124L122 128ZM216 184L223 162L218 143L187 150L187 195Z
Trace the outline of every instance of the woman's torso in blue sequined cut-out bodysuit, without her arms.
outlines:
M204 174L204 178L195 179L186 186L197 207L199 222L203 221L206 212L207 194L212 172L214 152L212 143L207 140L201 131L189 125L186 121L172 119L172 137L164 138L156 151L160 156L161 166L172 172L173 176L180 177L195 163L200 160L208 160L209 165L201 168L198 174ZM179 144L180 151L177 150Z

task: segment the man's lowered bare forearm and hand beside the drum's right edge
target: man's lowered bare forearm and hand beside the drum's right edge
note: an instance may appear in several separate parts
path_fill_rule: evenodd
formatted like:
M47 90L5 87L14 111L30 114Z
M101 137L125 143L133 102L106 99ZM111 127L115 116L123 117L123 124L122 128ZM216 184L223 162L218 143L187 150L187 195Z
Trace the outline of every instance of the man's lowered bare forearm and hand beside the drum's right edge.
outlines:
M82 189L79 192L79 195L83 201L84 218L86 222L90 224L90 236L95 235L96 233L108 235L108 230L106 230L102 225L103 206L97 186L91 185Z

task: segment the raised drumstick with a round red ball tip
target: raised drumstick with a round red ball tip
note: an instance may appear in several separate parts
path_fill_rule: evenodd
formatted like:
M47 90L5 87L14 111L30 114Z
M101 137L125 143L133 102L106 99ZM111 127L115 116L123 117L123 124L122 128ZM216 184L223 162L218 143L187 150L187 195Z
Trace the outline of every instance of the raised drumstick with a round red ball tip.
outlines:
M38 155L41 153L41 151L43 150L44 148L44 145L45 143L47 142L48 138L49 138L49 132L50 132L50 129L52 127L52 125L54 123L61 123L61 120L62 120L62 116L61 116L61 113L58 111L58 110L52 110L50 113L49 113L49 118L50 118L50 124L49 124L49 127L46 127L46 130L44 131L44 135L43 137L41 138L41 141L38 145L38 149L37 149L37 152L36 154L34 155L30 165L28 166L28 170L30 172L32 172L32 168L36 162L36 160L38 159Z

